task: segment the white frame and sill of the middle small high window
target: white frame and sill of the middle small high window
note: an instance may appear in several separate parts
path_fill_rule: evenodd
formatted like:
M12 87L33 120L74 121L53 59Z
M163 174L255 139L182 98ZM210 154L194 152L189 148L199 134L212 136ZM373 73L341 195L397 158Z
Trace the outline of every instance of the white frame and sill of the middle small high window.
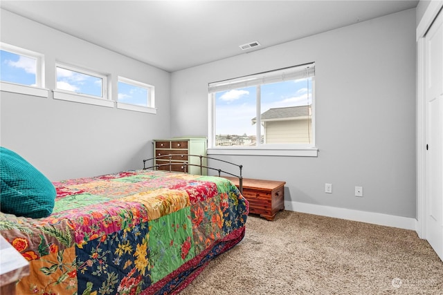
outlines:
M63 68L65 70L71 70L76 73L89 75L92 77L98 77L102 79L102 96L88 95L84 93L76 93L75 91L67 91L65 89L57 88L57 68ZM107 106L114 108L114 100L109 98L108 91L108 77L105 74L98 73L85 68L79 68L77 66L71 66L60 62L55 63L55 89L53 89L54 99L66 100L69 102L80 102L82 104L93 104L96 106Z

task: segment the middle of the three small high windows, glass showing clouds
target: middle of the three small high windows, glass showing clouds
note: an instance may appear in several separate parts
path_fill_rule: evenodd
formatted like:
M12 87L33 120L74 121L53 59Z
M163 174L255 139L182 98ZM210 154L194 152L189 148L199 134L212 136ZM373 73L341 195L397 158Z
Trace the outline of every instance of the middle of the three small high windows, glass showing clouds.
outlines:
M107 98L105 75L71 66L57 65L57 89L81 95Z

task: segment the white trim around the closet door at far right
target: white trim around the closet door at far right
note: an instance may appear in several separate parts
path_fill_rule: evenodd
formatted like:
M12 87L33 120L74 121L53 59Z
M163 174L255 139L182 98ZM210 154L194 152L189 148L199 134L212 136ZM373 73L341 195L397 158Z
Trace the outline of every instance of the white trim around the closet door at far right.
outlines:
M431 1L416 30L417 40L417 227L419 238L426 239L426 96L425 96L425 40L443 0Z

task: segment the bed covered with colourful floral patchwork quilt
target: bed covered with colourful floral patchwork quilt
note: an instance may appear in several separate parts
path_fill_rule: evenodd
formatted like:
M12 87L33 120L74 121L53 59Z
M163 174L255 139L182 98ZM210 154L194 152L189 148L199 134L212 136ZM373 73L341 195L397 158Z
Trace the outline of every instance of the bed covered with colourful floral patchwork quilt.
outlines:
M2 192L1 235L30 263L17 294L177 294L244 237L248 202L225 178L142 169L51 186L38 218Z

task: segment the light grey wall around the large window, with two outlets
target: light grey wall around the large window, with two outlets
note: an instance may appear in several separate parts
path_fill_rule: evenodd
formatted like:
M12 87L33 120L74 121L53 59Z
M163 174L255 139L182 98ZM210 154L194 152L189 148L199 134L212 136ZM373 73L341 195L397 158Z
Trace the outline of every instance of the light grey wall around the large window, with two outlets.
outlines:
M415 54L413 9L181 70L171 133L207 134L209 82L315 61L318 157L220 158L246 178L286 181L287 203L415 218Z

